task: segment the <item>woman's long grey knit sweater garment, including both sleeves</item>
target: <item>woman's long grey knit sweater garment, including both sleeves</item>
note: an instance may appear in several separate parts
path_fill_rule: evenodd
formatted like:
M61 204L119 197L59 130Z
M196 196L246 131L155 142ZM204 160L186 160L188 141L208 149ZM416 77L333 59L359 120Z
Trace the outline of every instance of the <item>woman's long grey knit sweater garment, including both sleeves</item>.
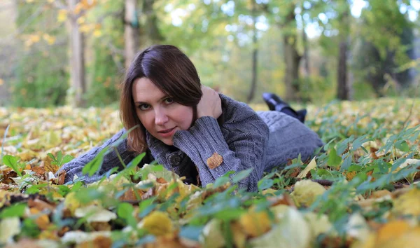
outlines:
M182 174L180 170L183 163L193 161L203 186L214 182L230 170L240 172L253 168L250 176L239 182L239 188L256 191L258 180L264 171L285 165L288 159L297 158L299 153L302 160L306 160L316 148L323 145L315 132L293 117L278 111L255 112L242 102L222 94L220 96L223 110L221 118L198 118L189 130L175 133L174 146L167 146L146 132L146 162L155 159L168 170ZM71 181L75 174L81 177L83 167L97 156L99 151L113 144L116 145L124 163L130 163L134 154L127 149L127 139L116 143L124 133L125 130L120 130L102 146L91 149L63 165L61 170L66 170L66 181ZM223 163L211 169L207 165L207 159L215 152L222 156ZM190 160L185 159L187 156ZM101 170L92 177L85 177L85 181L97 181L113 167L122 165L117 153L111 150L104 157ZM230 177L234 177L235 174Z

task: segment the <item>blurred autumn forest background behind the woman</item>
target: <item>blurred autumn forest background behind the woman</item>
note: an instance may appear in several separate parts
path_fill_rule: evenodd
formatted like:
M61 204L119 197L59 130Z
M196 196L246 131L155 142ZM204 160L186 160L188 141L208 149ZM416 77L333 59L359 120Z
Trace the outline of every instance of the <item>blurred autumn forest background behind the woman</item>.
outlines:
M243 102L418 97L419 0L1 0L2 106L107 106L151 44Z

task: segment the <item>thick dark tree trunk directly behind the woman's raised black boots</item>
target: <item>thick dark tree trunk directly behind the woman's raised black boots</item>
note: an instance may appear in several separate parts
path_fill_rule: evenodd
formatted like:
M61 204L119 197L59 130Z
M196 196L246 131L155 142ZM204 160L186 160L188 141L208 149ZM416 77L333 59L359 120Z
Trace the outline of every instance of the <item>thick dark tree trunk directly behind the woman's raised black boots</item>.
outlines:
M283 51L286 64L286 96L288 101L300 101L299 64L302 56L297 52L297 35L295 24L295 8L291 6L286 22L283 25Z

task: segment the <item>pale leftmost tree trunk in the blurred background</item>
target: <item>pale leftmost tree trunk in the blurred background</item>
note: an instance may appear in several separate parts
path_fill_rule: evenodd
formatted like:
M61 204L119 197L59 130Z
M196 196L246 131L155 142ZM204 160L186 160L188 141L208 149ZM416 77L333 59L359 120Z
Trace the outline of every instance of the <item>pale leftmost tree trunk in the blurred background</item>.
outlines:
M69 9L73 10L78 0L69 0ZM85 106L83 96L86 92L85 83L85 53L84 37L80 32L77 22L77 15L69 15L70 22L70 81L71 87L75 91L74 105Z

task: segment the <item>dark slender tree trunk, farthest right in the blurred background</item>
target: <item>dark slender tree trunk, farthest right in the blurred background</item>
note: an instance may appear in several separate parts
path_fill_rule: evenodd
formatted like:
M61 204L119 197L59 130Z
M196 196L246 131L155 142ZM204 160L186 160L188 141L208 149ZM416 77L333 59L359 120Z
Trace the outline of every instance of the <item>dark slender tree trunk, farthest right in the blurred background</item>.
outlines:
M347 0L343 1L346 5L345 11L341 13L339 18L342 25L339 30L339 53L338 53L338 67L337 67L337 98L340 100L350 99L350 85L347 76L347 50L348 50L348 36L349 36L349 4Z

